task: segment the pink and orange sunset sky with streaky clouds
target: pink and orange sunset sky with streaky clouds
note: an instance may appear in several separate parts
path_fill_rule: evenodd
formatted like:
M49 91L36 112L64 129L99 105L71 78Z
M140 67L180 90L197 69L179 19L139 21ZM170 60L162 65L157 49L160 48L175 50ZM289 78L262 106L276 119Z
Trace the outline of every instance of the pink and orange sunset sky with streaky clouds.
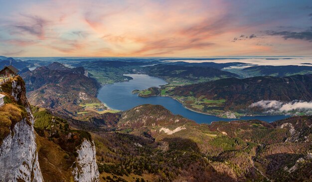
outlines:
M312 56L312 0L0 0L0 55Z

